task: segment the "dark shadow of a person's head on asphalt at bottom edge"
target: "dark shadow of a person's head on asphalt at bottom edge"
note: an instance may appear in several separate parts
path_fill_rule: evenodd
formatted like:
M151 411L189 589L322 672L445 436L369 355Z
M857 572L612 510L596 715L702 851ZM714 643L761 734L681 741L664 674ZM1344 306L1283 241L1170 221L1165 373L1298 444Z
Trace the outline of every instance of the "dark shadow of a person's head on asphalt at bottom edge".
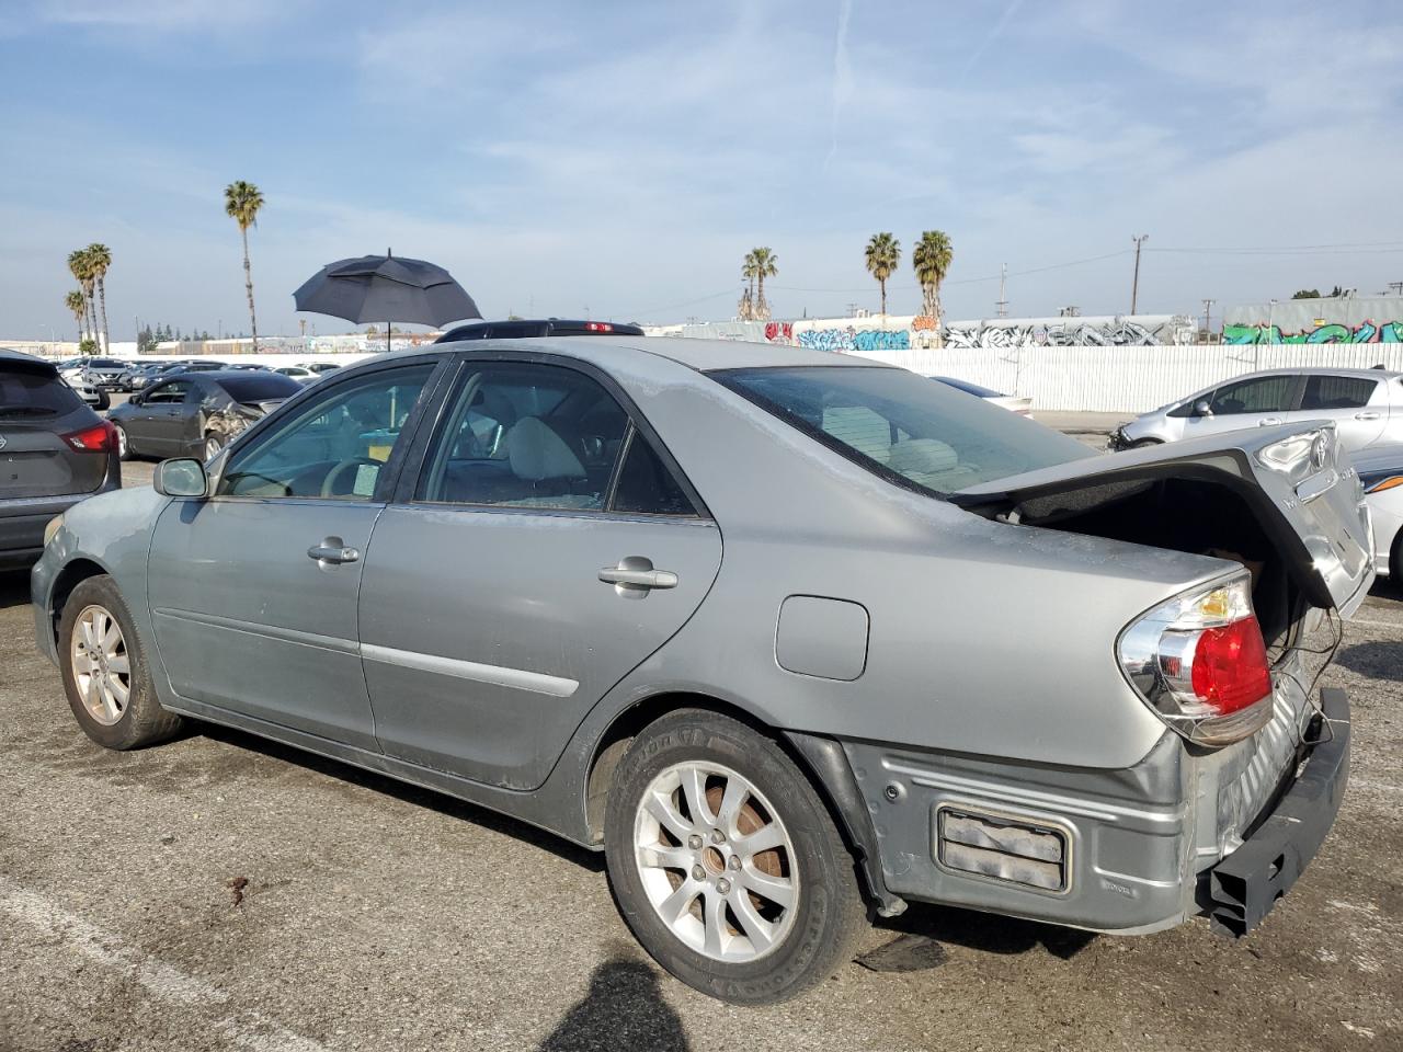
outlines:
M658 973L627 954L595 968L589 993L553 1030L537 1052L650 1049L686 1052L686 1030L658 989Z

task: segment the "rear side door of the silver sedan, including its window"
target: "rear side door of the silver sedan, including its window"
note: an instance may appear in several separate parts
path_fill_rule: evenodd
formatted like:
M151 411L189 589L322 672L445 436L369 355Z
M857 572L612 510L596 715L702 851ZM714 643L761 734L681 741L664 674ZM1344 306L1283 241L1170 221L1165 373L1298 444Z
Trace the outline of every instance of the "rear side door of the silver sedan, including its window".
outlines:
M526 790L692 616L721 537L596 379L463 373L376 523L361 652L387 755Z

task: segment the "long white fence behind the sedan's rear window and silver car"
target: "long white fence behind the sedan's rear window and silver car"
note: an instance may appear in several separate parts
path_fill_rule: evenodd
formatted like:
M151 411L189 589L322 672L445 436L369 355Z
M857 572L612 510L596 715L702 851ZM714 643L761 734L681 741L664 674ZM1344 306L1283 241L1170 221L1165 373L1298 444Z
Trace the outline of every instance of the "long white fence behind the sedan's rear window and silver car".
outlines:
M1368 369L1382 363L1403 372L1403 344L947 348L854 353L927 376L954 376L1006 394L1031 396L1034 410L1073 412L1148 412L1201 387L1257 369Z

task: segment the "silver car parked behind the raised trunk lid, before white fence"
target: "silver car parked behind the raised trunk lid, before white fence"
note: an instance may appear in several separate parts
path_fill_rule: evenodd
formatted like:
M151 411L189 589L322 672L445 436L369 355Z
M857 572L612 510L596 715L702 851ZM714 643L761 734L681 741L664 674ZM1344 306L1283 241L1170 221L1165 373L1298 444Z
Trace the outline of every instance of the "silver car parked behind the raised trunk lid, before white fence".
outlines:
M1347 450L1403 442L1403 373L1383 369L1268 369L1205 387L1136 417L1108 449L1135 449L1242 428L1327 419Z

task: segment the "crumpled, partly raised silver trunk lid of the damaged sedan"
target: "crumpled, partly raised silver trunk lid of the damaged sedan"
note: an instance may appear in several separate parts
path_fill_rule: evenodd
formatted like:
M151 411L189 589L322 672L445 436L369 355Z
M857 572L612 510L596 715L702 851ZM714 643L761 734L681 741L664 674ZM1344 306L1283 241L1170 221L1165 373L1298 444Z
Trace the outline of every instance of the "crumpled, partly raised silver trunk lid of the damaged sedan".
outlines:
M1374 536L1355 466L1327 421L1253 428L1070 460L950 497L969 509L1111 483L1194 476L1236 488L1317 606L1352 614L1374 582Z

